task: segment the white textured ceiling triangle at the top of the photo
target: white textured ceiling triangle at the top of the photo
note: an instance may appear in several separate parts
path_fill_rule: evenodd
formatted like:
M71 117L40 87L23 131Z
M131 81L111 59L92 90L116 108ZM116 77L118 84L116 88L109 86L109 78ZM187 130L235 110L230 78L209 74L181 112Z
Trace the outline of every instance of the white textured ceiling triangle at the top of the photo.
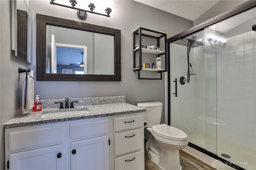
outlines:
M135 0L194 21L220 0Z

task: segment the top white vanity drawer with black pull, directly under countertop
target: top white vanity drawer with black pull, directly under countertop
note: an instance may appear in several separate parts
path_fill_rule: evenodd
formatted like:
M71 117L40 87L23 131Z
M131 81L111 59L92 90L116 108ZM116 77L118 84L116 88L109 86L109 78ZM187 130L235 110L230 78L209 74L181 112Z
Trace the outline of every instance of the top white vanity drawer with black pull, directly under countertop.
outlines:
M143 127L143 115L114 118L114 131Z

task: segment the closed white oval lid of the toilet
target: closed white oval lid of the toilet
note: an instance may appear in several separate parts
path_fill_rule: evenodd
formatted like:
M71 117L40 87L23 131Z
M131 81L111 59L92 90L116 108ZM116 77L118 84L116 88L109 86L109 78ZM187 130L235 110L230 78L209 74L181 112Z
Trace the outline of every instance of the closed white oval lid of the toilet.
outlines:
M161 136L163 138L167 138L170 140L184 141L188 140L188 135L182 130L171 127L166 124L152 126L152 132L154 134Z

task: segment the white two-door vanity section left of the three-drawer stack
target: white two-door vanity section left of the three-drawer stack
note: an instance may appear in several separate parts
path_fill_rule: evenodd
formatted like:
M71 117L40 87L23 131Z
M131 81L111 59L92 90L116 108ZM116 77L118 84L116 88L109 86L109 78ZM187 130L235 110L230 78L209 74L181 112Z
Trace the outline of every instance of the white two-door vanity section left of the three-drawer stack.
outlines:
M108 170L108 118L5 129L6 170Z

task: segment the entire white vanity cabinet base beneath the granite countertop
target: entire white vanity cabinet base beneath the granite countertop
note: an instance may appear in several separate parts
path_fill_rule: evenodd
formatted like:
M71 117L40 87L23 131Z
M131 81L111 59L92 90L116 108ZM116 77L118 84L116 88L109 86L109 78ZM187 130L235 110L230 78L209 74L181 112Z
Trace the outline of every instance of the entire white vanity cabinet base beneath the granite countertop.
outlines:
M6 170L144 170L142 113L4 130Z

